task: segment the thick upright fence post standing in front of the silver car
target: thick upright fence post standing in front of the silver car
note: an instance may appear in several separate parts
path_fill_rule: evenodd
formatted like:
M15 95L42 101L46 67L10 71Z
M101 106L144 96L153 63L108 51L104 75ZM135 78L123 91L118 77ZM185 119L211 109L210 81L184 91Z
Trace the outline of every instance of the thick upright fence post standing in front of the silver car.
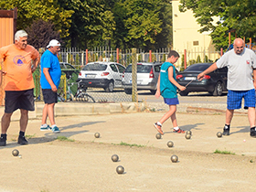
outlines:
M136 48L132 48L132 101L137 101L137 57L136 57Z

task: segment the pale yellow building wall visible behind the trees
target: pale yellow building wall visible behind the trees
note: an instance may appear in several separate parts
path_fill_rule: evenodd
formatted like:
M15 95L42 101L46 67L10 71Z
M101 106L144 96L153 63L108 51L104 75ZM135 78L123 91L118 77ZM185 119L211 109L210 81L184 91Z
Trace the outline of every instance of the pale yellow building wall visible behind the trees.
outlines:
M219 53L215 50L209 33L200 33L201 28L193 16L192 10L187 10L182 13L178 9L179 1L173 0L173 49L183 54L184 49L187 50L187 62L189 60L197 60L197 56L201 61L205 59L216 60L219 58ZM216 17L214 23L218 21ZM181 64L179 59L178 65Z

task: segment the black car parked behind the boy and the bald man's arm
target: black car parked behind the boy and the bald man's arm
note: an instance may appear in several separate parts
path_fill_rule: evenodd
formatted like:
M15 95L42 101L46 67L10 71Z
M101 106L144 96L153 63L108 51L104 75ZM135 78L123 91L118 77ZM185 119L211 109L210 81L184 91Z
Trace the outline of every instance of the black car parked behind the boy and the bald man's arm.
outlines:
M187 96L189 92L199 92L199 91L208 91L214 96L222 95L223 91L227 90L227 73L228 69L216 69L211 73L208 73L204 76L203 80L197 80L197 75L203 72L205 69L212 63L197 63L189 66L182 72L179 72L176 75L176 81L182 85L186 86L185 91L180 91L181 96Z

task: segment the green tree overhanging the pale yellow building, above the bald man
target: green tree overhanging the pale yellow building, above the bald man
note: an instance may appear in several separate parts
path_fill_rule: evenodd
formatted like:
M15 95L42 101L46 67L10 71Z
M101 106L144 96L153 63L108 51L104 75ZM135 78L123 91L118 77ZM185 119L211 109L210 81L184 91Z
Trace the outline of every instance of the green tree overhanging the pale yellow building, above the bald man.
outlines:
M181 0L180 11L191 9L201 25L200 32L212 31L211 37L216 48L228 48L230 29L235 29L238 37L255 37L256 1L254 0ZM213 23L213 16L219 22ZM224 45L225 44L225 45Z

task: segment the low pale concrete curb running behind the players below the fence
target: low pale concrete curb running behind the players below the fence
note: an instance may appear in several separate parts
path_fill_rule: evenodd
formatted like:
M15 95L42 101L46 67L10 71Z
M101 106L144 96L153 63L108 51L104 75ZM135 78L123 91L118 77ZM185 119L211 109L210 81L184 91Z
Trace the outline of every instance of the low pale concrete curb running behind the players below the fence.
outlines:
M165 112L168 110L167 105L160 104L161 108L157 109L159 103L144 103L144 102L116 102L116 103L83 103L83 102L59 102L55 105L56 116L70 116L70 115L95 115L95 114L112 114L112 113L129 113L129 112ZM156 106L156 107L155 107ZM29 119L41 118L44 108L44 102L39 101L35 104L35 111L29 112ZM4 106L0 106L0 117L5 111ZM189 113L211 113L223 114L226 112L226 105L202 105L202 104L180 104L177 107L177 112ZM235 112L240 115L247 115L247 111L240 110ZM17 121L20 118L20 112L17 110L12 115L12 121ZM0 120L1 121L1 120Z

